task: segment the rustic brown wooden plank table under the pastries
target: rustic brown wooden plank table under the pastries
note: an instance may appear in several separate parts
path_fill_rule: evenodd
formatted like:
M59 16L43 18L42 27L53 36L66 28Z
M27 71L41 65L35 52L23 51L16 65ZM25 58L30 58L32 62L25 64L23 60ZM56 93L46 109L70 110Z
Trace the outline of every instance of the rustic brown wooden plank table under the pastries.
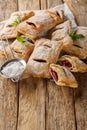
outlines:
M87 26L87 0L65 0L78 25ZM63 0L0 0L0 21L16 10L45 9ZM87 73L78 89L29 78L12 83L0 77L0 130L87 130Z

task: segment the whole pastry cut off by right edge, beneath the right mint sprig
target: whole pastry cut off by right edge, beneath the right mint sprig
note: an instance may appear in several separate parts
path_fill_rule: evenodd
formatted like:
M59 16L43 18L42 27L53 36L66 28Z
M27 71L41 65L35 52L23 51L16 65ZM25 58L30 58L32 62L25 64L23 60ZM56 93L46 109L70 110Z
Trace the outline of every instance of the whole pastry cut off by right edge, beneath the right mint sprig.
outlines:
M75 34L83 34L84 38L74 40L73 45L66 46L63 50L70 55L85 59L87 58L87 27L77 27Z

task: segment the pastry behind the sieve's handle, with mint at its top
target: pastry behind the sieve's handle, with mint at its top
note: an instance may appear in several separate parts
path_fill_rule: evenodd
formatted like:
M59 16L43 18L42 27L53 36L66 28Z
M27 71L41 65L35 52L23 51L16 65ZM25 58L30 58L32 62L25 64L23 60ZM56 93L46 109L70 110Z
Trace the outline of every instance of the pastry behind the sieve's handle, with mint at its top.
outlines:
M15 58L22 58L25 61L27 61L34 49L34 43L31 39L26 38L25 36L21 36L21 38L26 39L26 41L24 40L26 43L20 42L16 39L10 45L10 47L11 47L11 50L12 50ZM6 52L7 52L9 59L11 59L12 54L11 54L11 51L8 46L6 47ZM5 58L5 53L4 53L3 49L0 51L0 57Z

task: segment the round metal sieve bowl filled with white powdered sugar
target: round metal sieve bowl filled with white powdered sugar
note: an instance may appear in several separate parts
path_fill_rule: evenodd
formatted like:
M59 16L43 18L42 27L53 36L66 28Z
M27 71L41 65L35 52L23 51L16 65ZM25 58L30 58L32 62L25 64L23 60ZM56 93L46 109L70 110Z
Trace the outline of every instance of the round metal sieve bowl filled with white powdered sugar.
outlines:
M21 76L26 69L26 62L23 59L15 58L6 61L0 68L0 74L4 78L16 78Z

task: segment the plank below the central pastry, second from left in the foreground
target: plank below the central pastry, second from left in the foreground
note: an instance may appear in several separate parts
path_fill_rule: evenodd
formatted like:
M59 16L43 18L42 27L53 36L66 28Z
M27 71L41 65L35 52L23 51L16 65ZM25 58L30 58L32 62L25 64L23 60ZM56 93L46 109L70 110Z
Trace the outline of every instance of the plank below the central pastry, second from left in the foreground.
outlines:
M29 78L20 83L18 130L45 130L45 82Z

